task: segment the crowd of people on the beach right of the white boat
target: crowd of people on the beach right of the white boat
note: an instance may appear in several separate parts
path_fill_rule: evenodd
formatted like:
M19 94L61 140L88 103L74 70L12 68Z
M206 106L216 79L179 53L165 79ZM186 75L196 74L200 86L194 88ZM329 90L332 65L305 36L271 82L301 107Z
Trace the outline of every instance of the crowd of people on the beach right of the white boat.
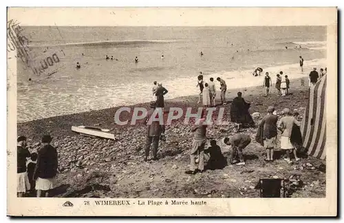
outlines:
M303 66L303 59L302 64L300 62L300 66ZM261 72L259 70L259 72ZM327 72L327 68L325 71L321 69L321 74L319 75L316 72L316 67L314 70L310 72L309 80L310 80L310 87L314 86L317 81L319 81L319 77L325 75ZM259 75L259 74L258 74ZM217 81L220 83L221 89L221 105L226 105L226 82L222 78L217 78ZM167 92L167 90L160 91L158 93L158 87L162 87L161 85L156 86L157 83L154 83L153 87L153 99L156 98L156 101L151 103L152 111L158 105L158 95L163 96L162 92ZM286 96L289 94L290 88L290 80L288 75L283 77L283 72L279 72L277 74L277 81L276 81L276 89L281 96ZM200 75L197 76L197 87L200 87L200 95L198 103L202 103L204 109L206 107L213 107L215 106L215 96L216 96L216 89L214 78L210 78L207 83L204 83L204 78L202 72ZM266 72L266 76L264 77L264 87L266 87L266 96L269 94L270 87L272 87L271 78ZM161 96L160 96L161 97ZM255 122L250 115L248 109L250 108L250 103L246 103L244 98L242 97L242 93L238 92L237 97L233 99L233 102L230 105L230 120L233 123L237 124L237 133L240 130L241 126L246 127L255 127ZM151 112L153 114L153 112ZM149 116L147 117L147 120ZM261 122L258 125L257 135L255 140L259 142L262 146L266 148L266 162L273 162L275 159L274 150L278 148L277 146L277 133L278 131L281 132L280 138L280 148L286 151L286 162L292 163L292 156L294 156L295 161L299 161L299 157L297 156L297 148L301 147L302 144L302 137L301 131L299 128L300 123L297 121L296 118L292 115L290 109L285 108L283 109L283 117L277 123L278 117L275 111L275 107L269 106L268 107L268 114L264 116ZM208 169L208 167L204 167L204 154L209 153L212 154L208 158L208 162L211 162L212 167L219 167L219 169L226 166L226 158L222 155L221 149L217 146L216 140L211 140L211 147L205 149L206 142L208 138L206 137L206 129L208 124L205 123L204 114L202 114L202 118L200 120L199 125L195 125L191 131L194 133L193 142L191 145L190 151L190 169L186 171L187 174L195 174L195 173L202 173L204 172L204 168ZM147 126L149 134L147 135L147 147L146 147L146 155L144 160L148 160L149 157L149 149L151 146L151 142L153 142L153 160L157 159L158 153L158 140L160 138L160 134L164 132L164 127L160 126L159 123L156 123L155 126L148 125ZM155 129L155 134L151 134L150 132L152 129ZM237 164L237 165L244 165L245 160L242 154L243 150L250 144L251 139L250 136L246 134L235 134L232 138L224 138L223 140L225 145L231 147L230 153L230 163ZM196 165L196 162L198 164Z

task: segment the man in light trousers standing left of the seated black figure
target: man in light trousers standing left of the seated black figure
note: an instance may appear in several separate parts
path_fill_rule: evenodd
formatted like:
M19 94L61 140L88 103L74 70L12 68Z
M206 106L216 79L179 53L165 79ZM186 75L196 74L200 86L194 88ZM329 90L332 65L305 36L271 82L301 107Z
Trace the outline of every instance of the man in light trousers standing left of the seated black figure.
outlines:
M206 128L205 118L200 119L200 124L195 125L191 132L194 132L193 144L190 151L190 170L186 174L195 174L204 172L204 147L206 145ZM198 156L198 169L195 167L195 158Z

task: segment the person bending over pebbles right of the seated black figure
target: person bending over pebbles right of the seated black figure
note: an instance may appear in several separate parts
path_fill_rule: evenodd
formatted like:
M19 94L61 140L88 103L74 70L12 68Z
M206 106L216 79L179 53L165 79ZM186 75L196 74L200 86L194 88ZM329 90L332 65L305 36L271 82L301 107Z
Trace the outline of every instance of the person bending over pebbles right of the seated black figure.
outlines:
M251 138L248 135L237 134L233 138L224 138L224 144L230 145L232 147L232 152L230 153L230 164L235 164L237 162L237 156L239 156L240 162L237 165L244 165L244 155L242 150L245 149L251 142Z

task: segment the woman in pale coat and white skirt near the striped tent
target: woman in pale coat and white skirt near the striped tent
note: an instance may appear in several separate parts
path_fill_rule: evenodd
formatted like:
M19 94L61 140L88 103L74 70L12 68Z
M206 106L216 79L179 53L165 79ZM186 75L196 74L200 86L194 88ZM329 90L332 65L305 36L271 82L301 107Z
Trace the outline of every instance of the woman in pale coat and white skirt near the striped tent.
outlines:
M292 135L292 127L295 125L300 125L300 123L294 118L294 116L291 116L290 109L285 108L283 109L283 117L281 120L279 120L279 124L277 128L279 131L281 131L281 149L286 150L287 158L286 160L289 164L292 163L290 160L290 153L294 153L294 157L296 161L299 161L300 158L297 157L297 150L292 145L292 142L290 141L290 136Z

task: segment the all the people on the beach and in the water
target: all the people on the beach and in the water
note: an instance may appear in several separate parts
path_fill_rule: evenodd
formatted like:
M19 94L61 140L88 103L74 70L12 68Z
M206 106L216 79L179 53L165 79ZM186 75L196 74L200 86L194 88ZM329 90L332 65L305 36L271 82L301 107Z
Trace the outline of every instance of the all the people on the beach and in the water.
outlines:
M201 55L203 53L201 52ZM109 59L108 56L106 59ZM111 56L111 60L112 60ZM163 59L163 56L162 56ZM136 56L135 62L138 62ZM300 67L303 70L303 59L300 56ZM77 64L77 68L80 68L80 64ZM254 76L259 76L263 69L258 67ZM327 68L323 70L321 68L320 74L316 71L316 67L309 74L310 87L313 87L319 78L327 73ZM227 85L224 79L217 77L216 80L220 85L220 98L221 104L226 105L226 90ZM266 89L266 96L270 93L270 87L272 87L272 80L269 73L266 72L264 76L264 83ZM215 96L217 90L214 83L214 78L209 78L209 81L204 81L202 72L197 76L197 87L200 88L198 103L202 104L204 109L206 107L215 107ZM288 76L283 77L283 72L279 72L276 78L275 87L277 92L281 96L289 94L290 81ZM151 145L153 144L153 158L152 160L158 160L158 145L160 140L165 140L165 127L160 125L158 121L149 123L148 120L151 115L154 114L155 109L164 109L164 95L168 93L168 90L162 86L162 83L153 82L152 94L151 94L151 110L148 112L146 118L147 125L147 140L144 150L144 161L149 160L149 153L151 151ZM233 99L230 105L230 120L237 125L237 133L231 137L225 137L222 139L224 145L231 148L230 157L228 158L230 164L245 165L243 151L250 145L251 138L246 134L239 134L241 127L255 127L255 122L250 115L248 109L250 103L247 103L242 97L242 93L238 92L237 97ZM266 162L273 162L275 160L274 151L277 146L278 131L281 132L280 148L286 151L286 162L292 163L292 156L295 161L299 161L297 156L297 148L301 145L301 132L299 129L300 123L297 121L290 109L283 109L283 117L278 121L278 117L275 111L275 107L269 106L268 114L264 116L258 125L257 134L255 140L259 142L266 149ZM222 154L221 148L217 145L217 141L213 138L207 137L207 128L209 123L206 123L204 112L200 123L193 126L191 131L193 132L193 142L190 150L190 169L186 171L187 174L202 173L206 169L223 169L227 165L227 158ZM210 140L210 147L207 149L206 142ZM27 146L27 138L25 136L19 136L17 138L17 193L19 197L23 197L24 194L34 194L37 197L49 197L52 189L56 187L56 174L58 173L58 156L57 151L50 142L52 142L51 136L43 136L41 139L41 148L36 152L30 153ZM208 154L208 156L205 156ZM206 166L204 166L204 160L206 159Z

